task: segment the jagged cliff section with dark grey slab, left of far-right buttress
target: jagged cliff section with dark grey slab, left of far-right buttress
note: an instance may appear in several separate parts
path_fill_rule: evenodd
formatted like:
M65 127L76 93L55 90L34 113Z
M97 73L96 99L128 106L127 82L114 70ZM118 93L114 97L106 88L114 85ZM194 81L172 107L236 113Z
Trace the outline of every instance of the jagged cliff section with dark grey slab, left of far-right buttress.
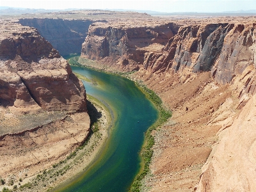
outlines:
M173 36L164 47L163 56L147 54L144 65L156 68L155 65L159 63L156 57L159 57L160 60L168 59L164 60L164 63L160 62L162 66L157 68L172 68L177 71L188 67L193 72L209 71L220 54L225 35L229 30L228 24L180 27L177 35Z

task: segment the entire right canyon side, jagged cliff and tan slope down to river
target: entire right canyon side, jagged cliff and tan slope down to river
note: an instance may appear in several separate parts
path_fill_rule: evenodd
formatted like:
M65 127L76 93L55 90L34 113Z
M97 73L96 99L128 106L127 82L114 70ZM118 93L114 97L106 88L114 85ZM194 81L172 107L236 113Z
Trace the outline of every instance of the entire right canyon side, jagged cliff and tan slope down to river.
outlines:
M243 108L255 95L255 34L255 24L182 26L163 52L145 54L134 78L145 81L173 111L156 134L154 177L145 180L150 191L254 191L254 145L246 144L246 134L255 131L243 122L253 106ZM238 127L243 134L236 134ZM234 143L250 152L241 154Z

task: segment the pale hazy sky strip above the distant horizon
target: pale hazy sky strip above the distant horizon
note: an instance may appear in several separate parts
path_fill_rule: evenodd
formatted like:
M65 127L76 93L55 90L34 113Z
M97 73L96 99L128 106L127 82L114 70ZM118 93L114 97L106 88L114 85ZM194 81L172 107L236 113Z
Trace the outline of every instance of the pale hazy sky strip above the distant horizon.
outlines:
M256 10L256 0L0 0L0 6L58 10L67 8L86 8L152 10L157 12L225 12L237 10Z

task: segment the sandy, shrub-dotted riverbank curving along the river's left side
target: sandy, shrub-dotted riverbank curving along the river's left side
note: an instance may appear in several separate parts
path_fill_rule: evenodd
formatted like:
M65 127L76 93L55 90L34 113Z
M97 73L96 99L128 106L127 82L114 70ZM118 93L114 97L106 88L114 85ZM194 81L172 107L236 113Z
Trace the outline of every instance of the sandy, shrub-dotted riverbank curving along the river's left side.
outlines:
M32 176L17 178L12 186L1 186L16 191L55 191L56 186L61 186L70 181L79 173L84 172L97 154L104 146L108 138L109 127L111 127L111 112L108 106L105 106L99 100L88 95L88 112L93 116L92 134L87 141L78 147L66 159L52 164L52 168L36 172ZM17 187L16 187L17 186Z

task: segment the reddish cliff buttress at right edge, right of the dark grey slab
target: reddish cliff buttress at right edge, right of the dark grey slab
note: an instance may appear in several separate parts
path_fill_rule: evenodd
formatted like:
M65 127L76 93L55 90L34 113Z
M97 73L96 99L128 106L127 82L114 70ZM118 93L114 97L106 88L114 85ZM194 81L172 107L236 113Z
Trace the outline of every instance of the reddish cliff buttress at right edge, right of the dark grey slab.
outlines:
M234 76L242 74L246 67L255 65L255 28L255 24L232 25L224 40L220 56L211 70L218 83L229 83ZM251 92L253 93L253 90Z

